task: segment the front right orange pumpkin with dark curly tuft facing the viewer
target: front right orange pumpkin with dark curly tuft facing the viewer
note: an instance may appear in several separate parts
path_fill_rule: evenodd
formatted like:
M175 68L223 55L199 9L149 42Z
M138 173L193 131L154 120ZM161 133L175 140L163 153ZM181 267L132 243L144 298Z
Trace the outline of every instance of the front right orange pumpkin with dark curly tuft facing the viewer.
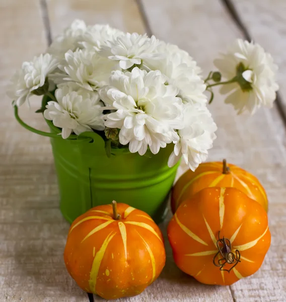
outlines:
M235 188L205 188L168 225L177 266L206 284L230 285L255 273L270 246L267 213Z

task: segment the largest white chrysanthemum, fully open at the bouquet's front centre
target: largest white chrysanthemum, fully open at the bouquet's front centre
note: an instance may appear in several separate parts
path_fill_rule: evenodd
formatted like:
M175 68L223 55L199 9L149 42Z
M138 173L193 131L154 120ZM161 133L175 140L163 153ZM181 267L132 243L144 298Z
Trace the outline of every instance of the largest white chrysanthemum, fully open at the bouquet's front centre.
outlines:
M119 128L119 141L129 143L131 153L144 155L148 146L153 154L160 147L178 139L174 129L182 123L182 100L178 89L165 85L166 77L159 71L115 71L110 77L110 86L100 90L106 105L116 111L105 116L105 126Z

